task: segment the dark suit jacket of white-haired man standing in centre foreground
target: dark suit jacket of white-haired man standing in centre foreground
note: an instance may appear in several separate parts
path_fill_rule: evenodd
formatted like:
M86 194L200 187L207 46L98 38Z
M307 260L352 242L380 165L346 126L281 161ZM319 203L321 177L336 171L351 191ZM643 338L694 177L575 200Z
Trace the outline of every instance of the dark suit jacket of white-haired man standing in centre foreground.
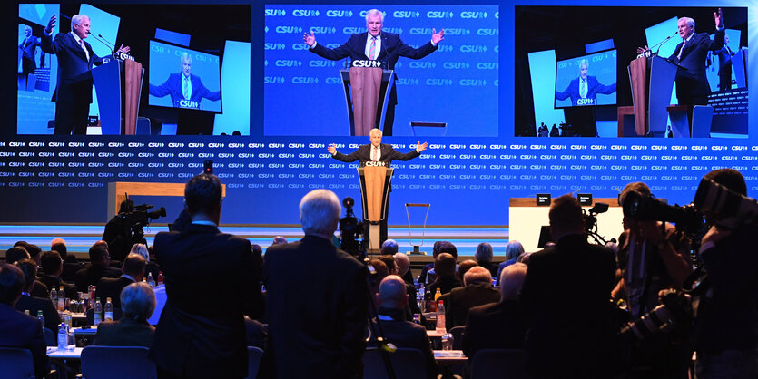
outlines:
M358 259L326 238L306 235L266 250L268 377L361 377L367 277Z

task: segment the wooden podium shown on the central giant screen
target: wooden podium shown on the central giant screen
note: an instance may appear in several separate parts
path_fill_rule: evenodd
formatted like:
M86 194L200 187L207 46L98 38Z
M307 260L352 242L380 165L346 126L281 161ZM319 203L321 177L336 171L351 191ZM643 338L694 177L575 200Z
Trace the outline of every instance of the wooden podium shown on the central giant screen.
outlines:
M351 136L368 136L371 129L384 125L394 74L380 67L340 69Z

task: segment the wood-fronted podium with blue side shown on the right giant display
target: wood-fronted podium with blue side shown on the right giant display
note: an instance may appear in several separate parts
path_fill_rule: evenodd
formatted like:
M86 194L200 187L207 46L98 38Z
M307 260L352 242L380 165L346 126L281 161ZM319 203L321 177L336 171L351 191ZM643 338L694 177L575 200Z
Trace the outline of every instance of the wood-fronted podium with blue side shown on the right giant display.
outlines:
M632 61L627 70L632 84L632 102L635 104L635 132L663 135L666 131L671 104L671 92L679 65L657 55L640 57Z

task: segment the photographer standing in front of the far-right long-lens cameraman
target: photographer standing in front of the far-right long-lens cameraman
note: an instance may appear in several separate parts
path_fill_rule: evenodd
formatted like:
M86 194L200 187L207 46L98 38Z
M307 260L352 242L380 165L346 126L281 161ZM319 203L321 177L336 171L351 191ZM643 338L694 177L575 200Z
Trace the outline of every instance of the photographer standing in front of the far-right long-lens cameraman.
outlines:
M687 342L688 326L692 323L692 317L687 315L691 307L684 301L684 295L679 296L681 291L677 294L674 290L681 290L684 279L692 272L689 239L683 230L660 221L666 219L665 215L654 204L666 206L652 197L645 183L627 184L619 200L624 209L625 230L619 237L616 254L621 278L611 296L617 302L624 300L631 322L620 335L625 363L622 371L626 378L686 378L693 351ZM659 308L661 298L671 302L671 306ZM659 311L668 312L666 317L660 317L661 325L655 319ZM648 316L650 313L654 317ZM643 316L648 322L653 318L655 325L636 322ZM664 324L674 327L659 331Z

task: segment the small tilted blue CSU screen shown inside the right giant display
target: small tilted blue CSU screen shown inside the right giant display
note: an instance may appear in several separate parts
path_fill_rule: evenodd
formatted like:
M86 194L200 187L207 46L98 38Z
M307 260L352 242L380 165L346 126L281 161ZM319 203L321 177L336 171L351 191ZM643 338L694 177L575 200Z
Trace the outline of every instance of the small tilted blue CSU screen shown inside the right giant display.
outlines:
M556 63L556 108L615 104L616 51Z

